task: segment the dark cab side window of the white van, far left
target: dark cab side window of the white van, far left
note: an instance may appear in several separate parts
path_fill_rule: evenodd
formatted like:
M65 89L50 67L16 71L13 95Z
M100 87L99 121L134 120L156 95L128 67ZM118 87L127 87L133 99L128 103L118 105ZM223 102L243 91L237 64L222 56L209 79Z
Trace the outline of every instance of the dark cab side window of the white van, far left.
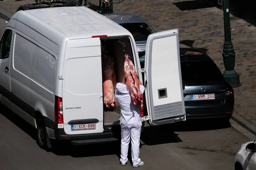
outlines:
M0 59L9 57L12 42L12 30L6 29L0 42Z

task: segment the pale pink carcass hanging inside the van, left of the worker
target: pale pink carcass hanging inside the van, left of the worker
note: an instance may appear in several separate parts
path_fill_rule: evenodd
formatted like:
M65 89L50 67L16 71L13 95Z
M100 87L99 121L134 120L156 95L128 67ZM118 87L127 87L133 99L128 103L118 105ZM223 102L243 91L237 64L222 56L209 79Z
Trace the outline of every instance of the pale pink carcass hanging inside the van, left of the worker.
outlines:
M109 56L107 53L103 54L102 57L102 68L103 68L103 95L104 95L104 104L109 108L114 107L115 95L114 95L114 86L112 78L116 79L114 74L114 62L113 57ZM114 74L114 75L113 75ZM116 85L116 81L115 81Z

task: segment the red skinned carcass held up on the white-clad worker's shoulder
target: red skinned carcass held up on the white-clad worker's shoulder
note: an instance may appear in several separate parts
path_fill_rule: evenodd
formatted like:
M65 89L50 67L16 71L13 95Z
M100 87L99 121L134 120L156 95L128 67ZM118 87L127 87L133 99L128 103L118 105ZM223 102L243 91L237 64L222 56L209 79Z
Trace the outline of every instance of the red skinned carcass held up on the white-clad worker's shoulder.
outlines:
M128 59L128 55L125 54L125 77L126 85L128 90L131 92L131 99L134 102L134 105L140 107L140 102L143 100L143 96L140 92L140 81L137 77L137 73L134 67L134 64Z

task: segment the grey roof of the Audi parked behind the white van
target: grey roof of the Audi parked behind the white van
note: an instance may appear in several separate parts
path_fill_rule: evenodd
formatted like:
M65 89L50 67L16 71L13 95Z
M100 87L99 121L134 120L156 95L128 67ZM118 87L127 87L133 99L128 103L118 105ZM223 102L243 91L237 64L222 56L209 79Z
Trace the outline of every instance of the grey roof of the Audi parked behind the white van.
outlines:
M103 14L108 19L114 21L115 23L147 23L141 17L136 14Z

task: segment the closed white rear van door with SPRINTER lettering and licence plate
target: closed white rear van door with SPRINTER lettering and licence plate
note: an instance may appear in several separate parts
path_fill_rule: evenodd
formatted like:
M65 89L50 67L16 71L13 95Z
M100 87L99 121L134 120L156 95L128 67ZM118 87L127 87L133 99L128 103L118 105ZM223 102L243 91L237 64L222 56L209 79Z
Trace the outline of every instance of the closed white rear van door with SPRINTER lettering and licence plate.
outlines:
M65 133L103 132L99 38L68 40L63 72L62 102Z

